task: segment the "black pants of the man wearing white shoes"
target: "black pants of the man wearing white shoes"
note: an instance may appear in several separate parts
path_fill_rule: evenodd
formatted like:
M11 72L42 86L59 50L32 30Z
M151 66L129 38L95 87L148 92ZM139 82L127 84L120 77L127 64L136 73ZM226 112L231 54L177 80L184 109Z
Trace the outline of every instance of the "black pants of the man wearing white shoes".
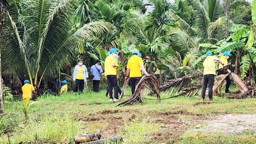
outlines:
M110 98L113 99L113 87L114 87L114 98L118 99L118 85L117 85L117 79L116 75L108 75L108 92Z

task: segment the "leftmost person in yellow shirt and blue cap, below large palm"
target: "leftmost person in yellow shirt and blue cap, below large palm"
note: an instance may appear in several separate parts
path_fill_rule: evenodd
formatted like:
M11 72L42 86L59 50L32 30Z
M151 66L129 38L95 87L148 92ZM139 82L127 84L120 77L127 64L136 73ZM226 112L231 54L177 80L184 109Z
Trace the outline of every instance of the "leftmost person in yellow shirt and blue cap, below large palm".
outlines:
M30 98L32 98L32 92L35 94L35 88L32 84L29 84L29 80L24 80L24 86L21 88L22 90L22 99L28 102Z

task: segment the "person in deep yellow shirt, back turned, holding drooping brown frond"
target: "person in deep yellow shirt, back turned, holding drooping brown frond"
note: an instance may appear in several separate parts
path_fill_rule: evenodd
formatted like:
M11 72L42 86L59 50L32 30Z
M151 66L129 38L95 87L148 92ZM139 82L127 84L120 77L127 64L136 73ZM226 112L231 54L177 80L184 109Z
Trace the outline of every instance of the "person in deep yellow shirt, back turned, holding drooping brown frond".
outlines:
M142 70L148 76L148 73L144 68L142 58L140 58L138 54L138 51L133 51L132 57L128 60L127 63L126 78L128 78L130 74L132 94L134 94L135 86L140 81L140 78L142 76L140 70Z

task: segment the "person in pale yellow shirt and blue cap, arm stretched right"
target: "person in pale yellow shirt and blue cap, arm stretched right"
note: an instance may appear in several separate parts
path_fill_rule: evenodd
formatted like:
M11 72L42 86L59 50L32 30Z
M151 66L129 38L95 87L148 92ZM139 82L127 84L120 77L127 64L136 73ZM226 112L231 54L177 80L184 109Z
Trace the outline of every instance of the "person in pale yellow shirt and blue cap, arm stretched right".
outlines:
M205 98L205 91L208 85L208 96L209 101L212 101L212 87L214 84L214 76L216 75L215 70L215 61L218 61L222 66L224 66L224 63L220 61L220 59L216 58L216 56L212 56L212 52L208 51L206 52L206 59L204 60L204 77L203 77L203 88L201 93L201 100L204 100Z

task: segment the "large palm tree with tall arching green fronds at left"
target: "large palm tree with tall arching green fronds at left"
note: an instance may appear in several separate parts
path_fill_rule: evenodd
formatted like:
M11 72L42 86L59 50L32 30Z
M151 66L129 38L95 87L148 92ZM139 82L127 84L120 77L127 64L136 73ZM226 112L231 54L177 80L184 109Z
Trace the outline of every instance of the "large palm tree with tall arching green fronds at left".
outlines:
M3 30L6 55L19 76L27 75L40 86L44 76L53 78L73 60L82 40L110 29L107 22L78 25L74 0L10 0L9 21Z

